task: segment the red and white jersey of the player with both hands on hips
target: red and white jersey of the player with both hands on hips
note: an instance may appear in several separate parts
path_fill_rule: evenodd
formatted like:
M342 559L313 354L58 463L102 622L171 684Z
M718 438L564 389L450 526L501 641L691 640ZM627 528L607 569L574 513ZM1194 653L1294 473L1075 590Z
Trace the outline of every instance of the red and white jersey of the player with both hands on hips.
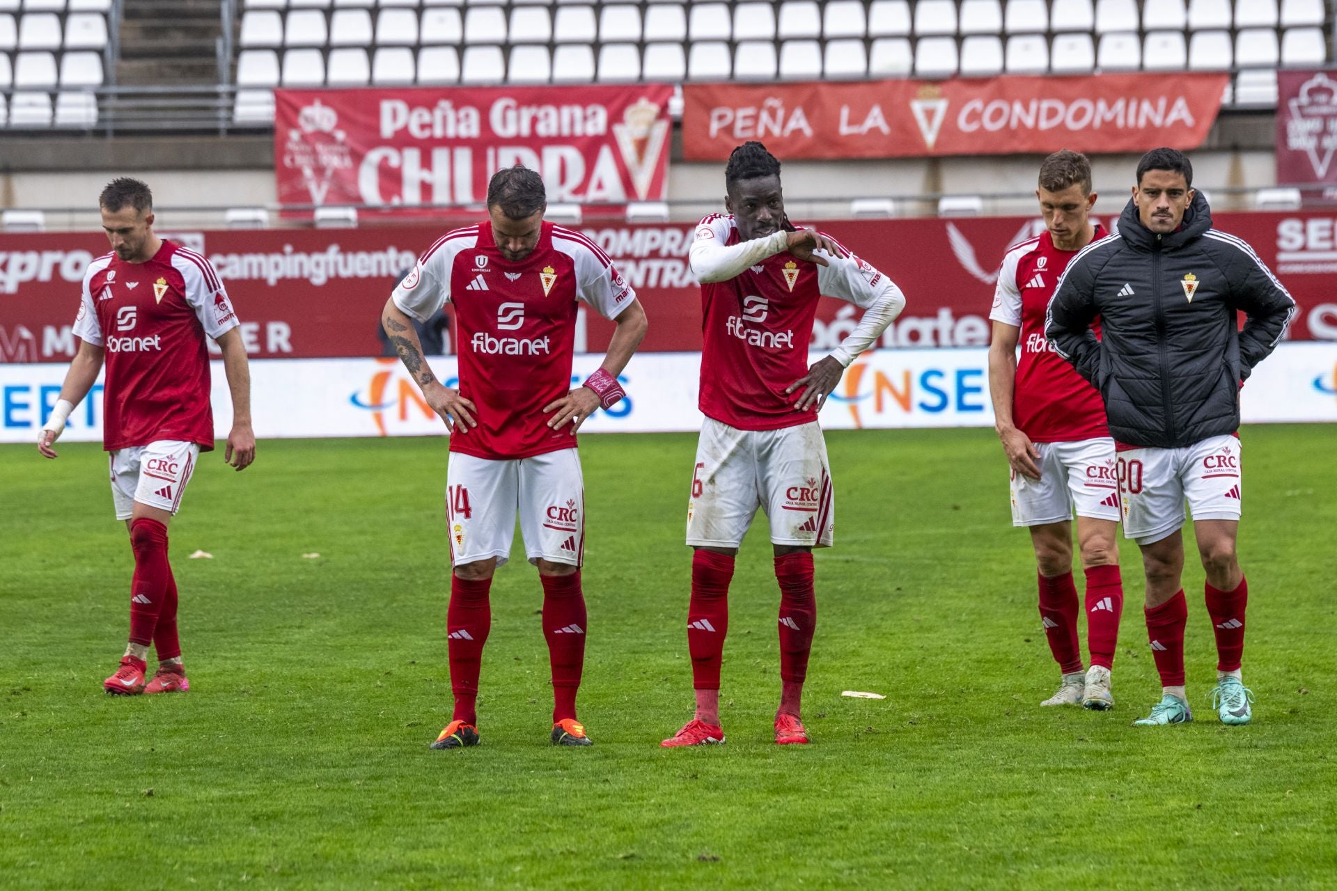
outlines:
M484 220L440 238L393 299L420 322L455 305L459 390L479 426L456 426L451 452L503 460L575 446L570 427L548 427L543 406L571 390L576 301L612 319L636 294L580 232L543 223L539 244L512 263Z

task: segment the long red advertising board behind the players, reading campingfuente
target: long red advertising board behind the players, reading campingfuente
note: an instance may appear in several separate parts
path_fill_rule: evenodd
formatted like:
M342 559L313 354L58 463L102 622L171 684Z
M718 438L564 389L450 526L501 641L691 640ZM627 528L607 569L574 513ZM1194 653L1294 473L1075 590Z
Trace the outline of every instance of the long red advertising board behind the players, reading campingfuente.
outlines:
M1096 207L1104 210L1103 203ZM1114 210L1112 207L1110 208ZM1110 224L1108 215L1099 218ZM1247 240L1300 303L1292 339L1337 341L1337 218L1219 214L1219 228ZM906 295L884 347L983 346L999 263L1009 244L1038 232L1031 218L832 220L818 223L885 271ZM701 349L701 289L687 269L694 226L590 224L636 289L650 317L643 350ZM257 358L382 354L380 314L396 277L443 226L168 234L218 269ZM0 362L63 362L84 269L107 251L98 232L5 235L0 243ZM578 350L602 351L612 323L582 313ZM830 349L858 310L822 301L813 349ZM447 333L447 342L449 343Z

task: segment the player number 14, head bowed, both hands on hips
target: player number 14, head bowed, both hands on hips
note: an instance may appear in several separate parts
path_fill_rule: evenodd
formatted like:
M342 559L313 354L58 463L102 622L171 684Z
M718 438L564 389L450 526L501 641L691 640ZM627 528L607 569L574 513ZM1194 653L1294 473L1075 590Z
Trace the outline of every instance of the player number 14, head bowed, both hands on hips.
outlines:
M584 667L584 484L576 430L624 394L618 375L646 334L646 314L612 260L588 238L543 222L543 180L516 166L492 176L488 219L447 232L394 287L381 325L451 430L445 506L447 610L455 713L432 748L479 744L476 700L492 625L492 574L511 556L516 512L543 582L552 664L554 745L590 745L576 720ZM409 317L455 305L460 389L437 381ZM603 365L568 391L579 301L618 323Z

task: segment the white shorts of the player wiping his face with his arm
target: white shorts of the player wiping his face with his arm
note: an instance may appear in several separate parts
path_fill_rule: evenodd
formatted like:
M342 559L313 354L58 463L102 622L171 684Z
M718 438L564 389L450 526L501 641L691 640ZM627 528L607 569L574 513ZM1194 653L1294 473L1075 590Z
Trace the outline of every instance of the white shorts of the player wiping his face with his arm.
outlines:
M738 548L757 508L777 545L830 548L836 526L826 439L816 421L738 430L706 418L687 502L687 544Z

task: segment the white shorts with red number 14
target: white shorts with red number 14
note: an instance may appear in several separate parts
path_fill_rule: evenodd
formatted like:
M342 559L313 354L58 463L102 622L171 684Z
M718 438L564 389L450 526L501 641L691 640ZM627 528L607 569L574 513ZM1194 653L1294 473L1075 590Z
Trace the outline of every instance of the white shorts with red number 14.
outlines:
M515 514L529 562L584 561L584 478L575 449L493 461L451 453L445 520L455 565L511 558Z

